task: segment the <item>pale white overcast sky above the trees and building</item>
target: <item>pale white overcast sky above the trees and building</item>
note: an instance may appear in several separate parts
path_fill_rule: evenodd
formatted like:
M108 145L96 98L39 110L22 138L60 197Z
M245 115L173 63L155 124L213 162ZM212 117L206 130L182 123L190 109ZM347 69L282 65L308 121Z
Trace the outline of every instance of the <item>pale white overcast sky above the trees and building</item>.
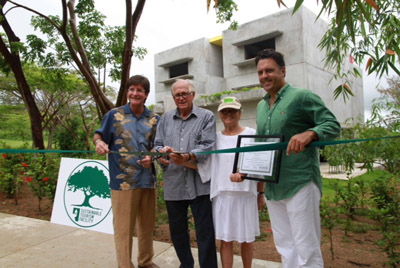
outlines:
M61 1L57 0L14 0L20 4L31 7L43 14L61 15ZM251 2L251 5L249 4ZM320 6L317 1L305 1L307 8L318 13ZM124 0L96 0L96 8L106 15L106 24L117 26L125 24ZM112 4L110 4L112 3ZM238 11L234 19L243 24L272 13L285 9L278 7L275 0L236 0ZM295 0L286 0L288 7L294 5ZM135 1L134 1L134 4ZM9 5L9 4L8 4ZM321 3L319 3L321 5ZM6 6L7 9L7 6ZM25 10L13 9L7 18L17 36L22 40L31 33L31 13ZM147 105L155 103L154 97L154 54L173 48L175 46L191 42L199 38L212 38L221 35L228 28L228 24L217 24L215 12L210 9L207 12L206 0L149 0L146 2L143 14L139 21L135 46L145 47L148 54L143 60L133 58L131 75L141 74L149 78L151 88ZM364 66L361 66L364 69ZM381 86L386 85L385 79L381 79ZM379 80L374 75L367 76L364 73L364 110L368 118L371 109L371 101L379 96L376 86ZM112 86L119 88L117 83ZM333 93L332 93L333 94ZM357 96L356 96L357 97Z

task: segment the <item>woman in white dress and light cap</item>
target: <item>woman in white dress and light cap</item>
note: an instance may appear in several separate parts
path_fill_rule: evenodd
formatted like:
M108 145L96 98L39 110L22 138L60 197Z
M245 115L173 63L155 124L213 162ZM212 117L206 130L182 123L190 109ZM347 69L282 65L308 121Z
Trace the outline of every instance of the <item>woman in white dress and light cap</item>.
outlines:
M238 135L255 135L252 128L239 125L242 105L227 97L218 106L225 129L217 133L216 149L236 147ZM211 191L215 235L221 241L222 266L233 266L233 241L241 244L243 267L251 267L253 244L260 235L258 212L265 205L264 183L244 180L231 182L235 154L213 154L211 157ZM257 190L259 194L257 193Z

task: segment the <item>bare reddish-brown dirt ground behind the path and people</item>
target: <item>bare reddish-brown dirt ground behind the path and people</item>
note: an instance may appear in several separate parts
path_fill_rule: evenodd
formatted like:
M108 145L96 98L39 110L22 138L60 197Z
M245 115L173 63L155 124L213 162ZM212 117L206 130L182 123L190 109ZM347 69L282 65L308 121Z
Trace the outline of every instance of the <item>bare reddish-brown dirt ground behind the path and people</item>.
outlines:
M14 199L8 199L3 193L0 193L0 212L31 217L42 220L50 220L52 203L44 199L41 203L41 211L38 210L38 200L32 193L23 187L19 194L18 205L15 205ZM357 217L354 225L358 222L373 221L366 217ZM280 256L276 252L273 237L268 221L261 222L261 237L254 242L254 258L268 261L280 262ZM333 250L334 258L330 252L330 243L327 230L323 230L322 254L325 267L327 268L345 268L345 267L388 267L385 265L387 258L376 244L380 238L378 231L368 231L353 233L349 236L344 235L343 230L333 231ZM191 231L192 246L196 247L194 231ZM156 227L155 240L170 242L168 224L159 224ZM218 245L219 243L217 243ZM235 245L235 254L240 255L239 245Z

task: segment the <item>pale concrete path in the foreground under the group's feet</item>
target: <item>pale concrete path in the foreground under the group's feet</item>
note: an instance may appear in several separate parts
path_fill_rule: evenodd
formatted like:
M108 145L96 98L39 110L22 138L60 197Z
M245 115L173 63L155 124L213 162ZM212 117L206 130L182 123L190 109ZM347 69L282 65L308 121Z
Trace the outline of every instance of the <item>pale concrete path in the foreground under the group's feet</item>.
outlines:
M154 242L154 262L161 268L179 267L169 243ZM192 249L197 262L197 249ZM137 241L133 257L137 259ZM219 256L218 256L219 258ZM218 260L219 261L219 260ZM234 267L242 267L235 256ZM134 262L135 265L137 263ZM221 263L219 263L221 267ZM1 268L110 268L117 267L113 236L58 225L44 220L0 213ZM137 266L136 266L137 267ZM281 268L280 263L254 260L254 268Z

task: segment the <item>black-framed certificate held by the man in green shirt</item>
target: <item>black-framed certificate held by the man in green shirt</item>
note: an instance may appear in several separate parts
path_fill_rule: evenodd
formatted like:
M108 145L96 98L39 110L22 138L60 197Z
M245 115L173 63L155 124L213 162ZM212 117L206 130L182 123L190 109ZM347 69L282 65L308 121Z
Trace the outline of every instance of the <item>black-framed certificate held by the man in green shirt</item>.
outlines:
M236 147L247 147L278 143L281 135L239 135ZM233 173L245 174L243 179L264 182L279 182L282 150L235 153Z

